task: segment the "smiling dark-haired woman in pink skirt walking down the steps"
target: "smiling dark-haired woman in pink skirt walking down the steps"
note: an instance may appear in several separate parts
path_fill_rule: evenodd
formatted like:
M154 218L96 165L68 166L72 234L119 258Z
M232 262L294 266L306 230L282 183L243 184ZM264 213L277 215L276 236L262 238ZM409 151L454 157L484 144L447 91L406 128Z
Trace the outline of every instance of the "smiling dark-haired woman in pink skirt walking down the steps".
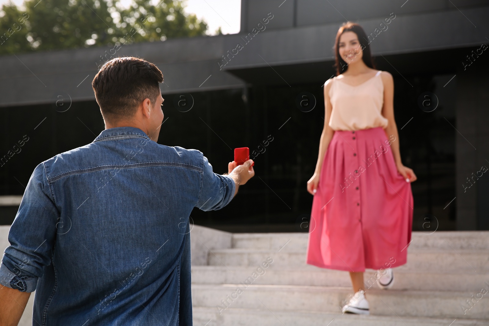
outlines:
M343 312L369 314L363 272L380 288L394 282L411 241L413 170L401 163L394 82L374 69L367 36L356 23L336 35L336 77L324 84L325 122L316 169L307 263L350 272L355 295ZM368 282L370 285L372 282Z

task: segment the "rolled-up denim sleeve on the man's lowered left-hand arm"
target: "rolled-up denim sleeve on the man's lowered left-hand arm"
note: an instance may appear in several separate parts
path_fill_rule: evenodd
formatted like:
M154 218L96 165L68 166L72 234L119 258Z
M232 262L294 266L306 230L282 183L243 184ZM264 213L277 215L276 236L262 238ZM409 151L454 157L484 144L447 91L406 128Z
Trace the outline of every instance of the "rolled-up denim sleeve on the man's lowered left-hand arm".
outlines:
M33 292L43 267L51 262L60 214L51 194L44 164L32 173L12 223L0 265L0 283Z

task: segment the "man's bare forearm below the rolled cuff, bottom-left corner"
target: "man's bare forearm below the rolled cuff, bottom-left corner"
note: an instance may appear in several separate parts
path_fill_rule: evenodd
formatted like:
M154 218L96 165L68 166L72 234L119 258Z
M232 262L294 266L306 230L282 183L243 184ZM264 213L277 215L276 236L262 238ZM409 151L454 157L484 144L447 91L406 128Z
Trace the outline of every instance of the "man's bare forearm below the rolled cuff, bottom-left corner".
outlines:
M30 294L0 284L0 326L19 324Z

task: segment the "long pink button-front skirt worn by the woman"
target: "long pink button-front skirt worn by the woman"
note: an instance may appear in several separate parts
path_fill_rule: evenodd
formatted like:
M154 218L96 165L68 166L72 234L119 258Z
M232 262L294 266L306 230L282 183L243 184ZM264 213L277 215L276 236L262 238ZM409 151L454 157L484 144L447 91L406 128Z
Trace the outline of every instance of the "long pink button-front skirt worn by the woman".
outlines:
M403 265L411 241L411 183L381 128L336 130L312 200L306 263L363 272Z

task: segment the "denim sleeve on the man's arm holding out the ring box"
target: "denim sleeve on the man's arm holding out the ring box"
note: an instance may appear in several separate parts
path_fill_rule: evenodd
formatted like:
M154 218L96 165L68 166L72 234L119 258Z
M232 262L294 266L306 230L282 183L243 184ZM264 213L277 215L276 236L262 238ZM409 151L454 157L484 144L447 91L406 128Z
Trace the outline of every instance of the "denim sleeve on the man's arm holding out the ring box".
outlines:
M200 154L203 160L203 172L196 207L202 211L220 210L233 199L236 185L230 176L214 173L207 157L203 156L202 152Z

